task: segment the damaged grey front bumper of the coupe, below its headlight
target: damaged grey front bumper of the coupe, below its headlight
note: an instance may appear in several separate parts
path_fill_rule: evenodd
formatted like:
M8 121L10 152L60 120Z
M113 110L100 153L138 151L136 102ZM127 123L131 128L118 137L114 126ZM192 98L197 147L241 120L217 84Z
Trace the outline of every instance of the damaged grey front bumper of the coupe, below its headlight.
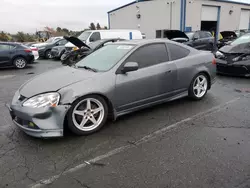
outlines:
M19 102L6 106L13 123L26 134L44 138L63 136L64 119L70 106L29 108Z

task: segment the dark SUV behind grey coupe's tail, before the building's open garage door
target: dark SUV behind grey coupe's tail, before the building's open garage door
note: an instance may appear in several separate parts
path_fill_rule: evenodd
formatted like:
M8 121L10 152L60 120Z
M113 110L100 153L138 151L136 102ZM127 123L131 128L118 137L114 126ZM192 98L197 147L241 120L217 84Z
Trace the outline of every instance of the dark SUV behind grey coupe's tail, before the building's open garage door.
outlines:
M186 44L198 50L214 50L214 37L209 31L188 32L189 42Z

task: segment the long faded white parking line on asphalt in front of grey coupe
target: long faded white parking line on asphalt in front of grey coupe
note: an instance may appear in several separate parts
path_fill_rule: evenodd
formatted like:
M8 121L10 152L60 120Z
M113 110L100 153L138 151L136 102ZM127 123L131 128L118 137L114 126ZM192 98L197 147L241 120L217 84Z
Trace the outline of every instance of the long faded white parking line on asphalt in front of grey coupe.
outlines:
M139 139L138 141L135 141L134 144L124 145L124 146L121 146L119 148L113 149L113 150L111 150L111 151L109 151L109 152L107 152L107 153L105 153L103 155L97 156L97 157L95 157L93 159L90 159L88 161L84 161L82 164L79 164L79 165L77 165L77 166L75 166L73 168L65 170L65 171L61 172L60 174L58 174L58 175L49 177L48 179L40 180L40 181L38 181L38 183L32 184L29 187L30 188L40 188L40 187L49 185L49 184L53 183L54 181L56 181L58 178L60 178L62 175L67 175L69 173L75 172L75 171L77 171L79 169L82 169L82 168L86 167L87 165L89 165L91 163L96 163L96 162L98 162L100 160L103 160L103 159L111 157L111 156L113 156L115 154L121 153L121 152L123 152L123 151L125 151L127 149L134 148L134 147L136 147L138 145L146 143L146 142L156 138L157 136L160 136L160 135L163 135L163 134L167 133L169 130L172 130L172 129L175 129L175 128L179 127L183 123L190 122L192 120L199 119L201 117L205 117L205 116L211 115L213 113L216 113L216 112L220 111L221 109L226 108L228 105L231 105L231 104L235 103L236 101L238 101L240 99L241 99L241 97L234 98L234 99L232 99L232 100L230 100L230 101L228 101L228 102L226 102L224 104L221 104L221 105L215 106L213 108L210 108L207 111L200 112L200 113L198 113L198 114L196 114L196 115L194 115L192 117L189 117L189 118L183 119L181 121L178 121L178 122L176 122L174 124L171 124L171 125L169 125L167 127L164 127L164 128L159 129L159 130L157 130L157 131L155 131L155 132L153 132L151 134L148 134L148 135L144 136L143 138Z

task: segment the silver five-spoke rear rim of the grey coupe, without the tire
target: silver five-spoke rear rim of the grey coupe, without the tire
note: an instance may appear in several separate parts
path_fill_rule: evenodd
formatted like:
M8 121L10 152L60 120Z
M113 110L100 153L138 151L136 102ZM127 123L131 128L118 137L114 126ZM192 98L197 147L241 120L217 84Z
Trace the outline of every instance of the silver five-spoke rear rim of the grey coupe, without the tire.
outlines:
M206 94L207 88L208 88L207 78L204 75L199 75L195 79L193 84L194 95L197 98L202 98Z

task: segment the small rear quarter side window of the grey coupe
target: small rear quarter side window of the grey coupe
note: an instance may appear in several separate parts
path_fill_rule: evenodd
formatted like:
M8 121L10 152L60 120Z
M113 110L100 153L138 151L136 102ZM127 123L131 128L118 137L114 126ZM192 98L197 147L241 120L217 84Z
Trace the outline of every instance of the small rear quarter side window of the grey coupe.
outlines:
M176 44L168 43L167 46L168 46L172 61L184 58L190 53L188 49L178 46Z

